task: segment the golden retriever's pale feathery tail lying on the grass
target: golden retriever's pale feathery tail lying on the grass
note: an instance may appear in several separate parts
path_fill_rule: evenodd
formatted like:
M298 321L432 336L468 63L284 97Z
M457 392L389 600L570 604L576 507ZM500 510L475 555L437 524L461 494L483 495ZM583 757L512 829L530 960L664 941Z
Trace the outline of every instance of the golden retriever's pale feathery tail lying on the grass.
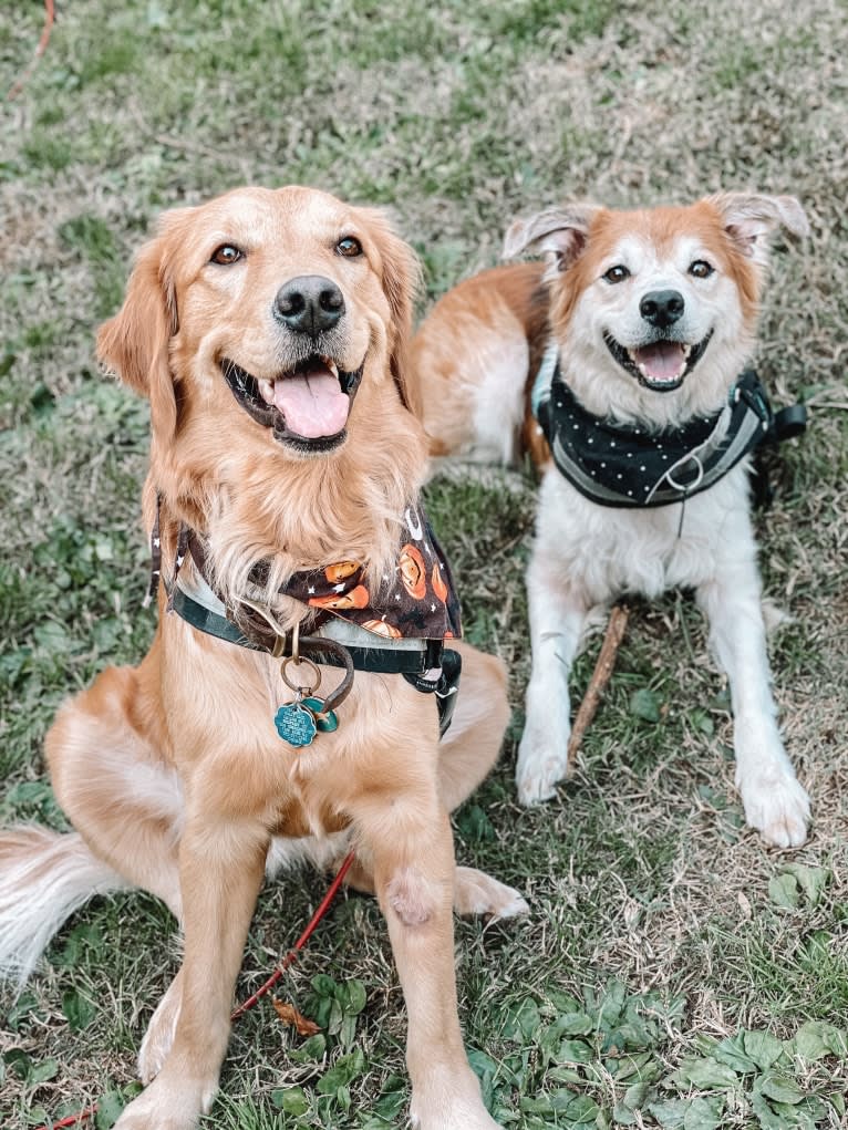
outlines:
M126 885L77 832L35 825L0 831L0 977L20 989L76 910Z

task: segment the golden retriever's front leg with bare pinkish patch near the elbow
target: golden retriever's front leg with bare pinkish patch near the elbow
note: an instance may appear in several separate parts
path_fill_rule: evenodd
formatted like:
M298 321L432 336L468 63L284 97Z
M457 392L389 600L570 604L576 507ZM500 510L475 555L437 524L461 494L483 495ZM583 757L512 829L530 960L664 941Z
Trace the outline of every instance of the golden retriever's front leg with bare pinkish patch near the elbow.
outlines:
M453 968L453 840L436 794L395 797L356 817L373 860L409 1028L410 1115L419 1130L495 1130L468 1066Z

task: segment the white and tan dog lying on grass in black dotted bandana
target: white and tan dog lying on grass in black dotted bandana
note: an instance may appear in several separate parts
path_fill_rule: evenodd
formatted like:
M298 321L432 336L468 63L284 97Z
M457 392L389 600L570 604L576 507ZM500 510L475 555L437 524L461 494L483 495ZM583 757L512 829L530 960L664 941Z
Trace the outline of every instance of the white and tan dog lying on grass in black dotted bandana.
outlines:
M734 447L742 441L733 437L738 419L728 403L738 400L769 237L779 226L807 231L791 197L721 193L642 211L550 208L517 220L505 243L507 255L540 252L547 266L468 279L418 331L413 353L432 452L509 460L529 450L543 469L527 576L533 672L517 770L525 803L552 797L565 773L568 675L589 610L628 592L656 597L686 586L709 617L729 677L746 819L771 844L806 837L810 803L770 690L749 513L753 440ZM560 466L531 395L556 415L556 434L546 435ZM759 426L745 405L738 415L746 435ZM701 462L689 449L681 457L680 444L675 451L681 437ZM666 440L676 479L663 462ZM606 444L611 459L634 461L616 470L595 443ZM654 467L640 458L644 443ZM704 453L733 466L702 480ZM606 485L596 486L596 476ZM647 505L635 505L642 493Z

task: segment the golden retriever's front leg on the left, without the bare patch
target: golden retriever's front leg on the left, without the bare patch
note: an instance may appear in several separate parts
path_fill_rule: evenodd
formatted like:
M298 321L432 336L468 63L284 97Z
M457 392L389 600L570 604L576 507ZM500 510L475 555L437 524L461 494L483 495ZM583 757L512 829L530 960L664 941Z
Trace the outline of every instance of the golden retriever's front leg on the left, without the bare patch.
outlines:
M265 828L246 818L189 815L180 843L185 954L174 1043L115 1130L193 1130L211 1107L267 849Z

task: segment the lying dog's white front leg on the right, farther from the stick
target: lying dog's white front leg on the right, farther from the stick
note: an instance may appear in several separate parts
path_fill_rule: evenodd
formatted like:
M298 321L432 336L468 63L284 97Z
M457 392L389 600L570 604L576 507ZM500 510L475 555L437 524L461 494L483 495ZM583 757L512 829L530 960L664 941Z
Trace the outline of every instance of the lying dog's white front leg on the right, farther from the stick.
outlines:
M810 799L784 749L771 694L760 577L750 529L725 539L735 553L698 589L710 642L730 681L736 784L745 819L763 840L794 847L806 840Z

